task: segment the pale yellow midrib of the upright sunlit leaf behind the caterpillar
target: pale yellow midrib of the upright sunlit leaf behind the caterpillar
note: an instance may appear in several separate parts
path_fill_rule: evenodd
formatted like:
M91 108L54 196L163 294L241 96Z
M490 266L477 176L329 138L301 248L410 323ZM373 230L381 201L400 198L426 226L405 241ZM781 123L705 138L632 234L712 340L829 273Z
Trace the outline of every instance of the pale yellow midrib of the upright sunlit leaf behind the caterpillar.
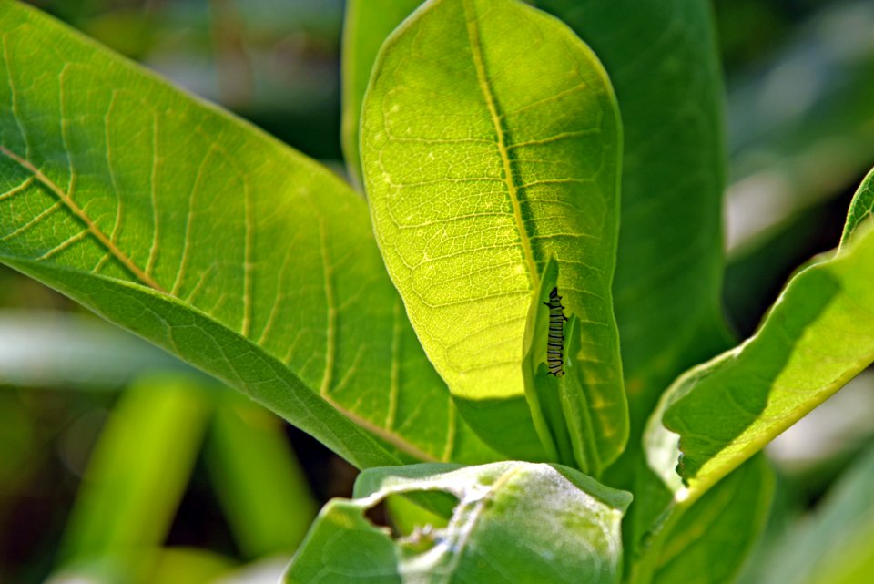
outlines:
M523 256L525 263L528 266L528 272L531 274L531 290L536 290L540 285L537 264L534 261L534 251L532 251L531 248L531 240L528 237L528 231L525 230L525 222L522 216L522 202L519 200L519 191L517 190L515 180L513 179L513 166L506 145L506 131L503 128L501 114L498 111L497 99L494 96L492 86L489 84L488 77L486 76L483 49L482 46L480 46L479 29L476 25L476 11L470 4L471 0L463 0L462 2L464 17L467 23L468 40L471 45L473 67L476 69L476 77L479 81L480 90L483 92L483 98L485 99L486 107L489 109L489 116L492 118L492 125L494 127L495 135L497 136L498 153L500 154L503 163L503 181L507 186L510 202L513 205L513 219L516 223L516 231L519 231L519 241L522 244Z

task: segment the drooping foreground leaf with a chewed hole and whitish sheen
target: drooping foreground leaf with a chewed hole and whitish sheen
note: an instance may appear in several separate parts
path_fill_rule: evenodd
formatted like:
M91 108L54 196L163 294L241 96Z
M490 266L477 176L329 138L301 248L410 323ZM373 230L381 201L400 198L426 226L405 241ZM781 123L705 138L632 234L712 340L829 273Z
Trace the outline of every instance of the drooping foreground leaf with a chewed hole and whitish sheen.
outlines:
M361 475L354 500L334 499L292 562L297 582L617 582L619 524L630 496L563 466L501 462L416 465ZM392 538L365 513L412 492L457 498L446 528ZM537 493L537 497L532 497Z

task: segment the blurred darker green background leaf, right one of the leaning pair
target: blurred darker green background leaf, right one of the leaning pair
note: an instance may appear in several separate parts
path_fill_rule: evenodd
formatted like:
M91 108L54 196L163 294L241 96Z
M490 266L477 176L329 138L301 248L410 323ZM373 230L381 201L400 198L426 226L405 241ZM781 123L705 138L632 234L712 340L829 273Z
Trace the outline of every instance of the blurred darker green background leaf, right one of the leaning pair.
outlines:
M236 392L222 392L208 467L245 558L298 547L318 506L279 418Z

